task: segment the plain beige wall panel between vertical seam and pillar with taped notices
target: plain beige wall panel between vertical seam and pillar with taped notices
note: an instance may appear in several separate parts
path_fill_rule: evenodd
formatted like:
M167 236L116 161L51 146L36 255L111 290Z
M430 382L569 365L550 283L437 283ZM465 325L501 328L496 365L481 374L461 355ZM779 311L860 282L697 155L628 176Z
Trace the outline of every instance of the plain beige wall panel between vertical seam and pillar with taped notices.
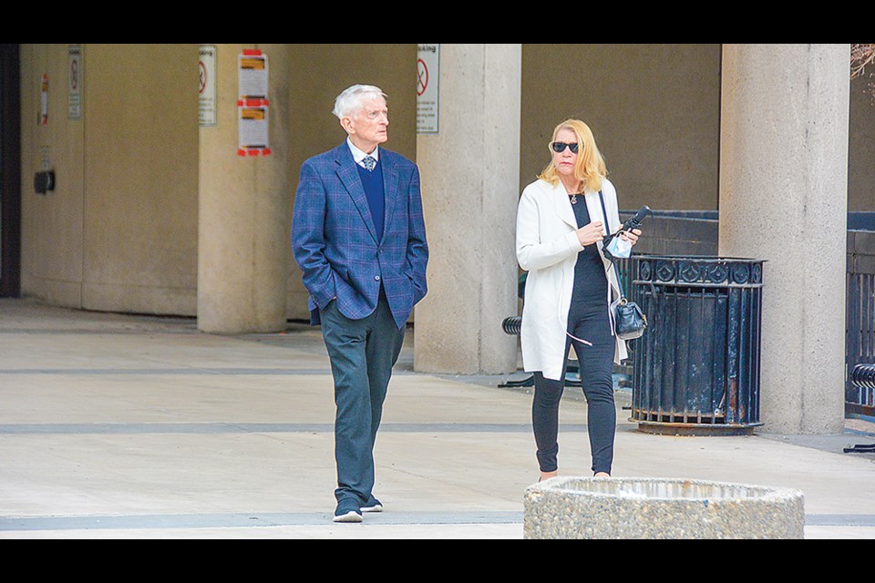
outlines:
M83 307L194 315L197 45L88 45Z

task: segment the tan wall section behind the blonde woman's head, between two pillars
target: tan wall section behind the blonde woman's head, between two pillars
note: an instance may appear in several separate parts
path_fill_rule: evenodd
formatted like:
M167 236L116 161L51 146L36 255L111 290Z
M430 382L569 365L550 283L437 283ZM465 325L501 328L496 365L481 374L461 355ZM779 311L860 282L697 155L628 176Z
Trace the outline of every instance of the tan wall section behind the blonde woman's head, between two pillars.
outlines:
M550 160L552 129L595 134L622 209L717 208L720 45L522 48L520 184Z

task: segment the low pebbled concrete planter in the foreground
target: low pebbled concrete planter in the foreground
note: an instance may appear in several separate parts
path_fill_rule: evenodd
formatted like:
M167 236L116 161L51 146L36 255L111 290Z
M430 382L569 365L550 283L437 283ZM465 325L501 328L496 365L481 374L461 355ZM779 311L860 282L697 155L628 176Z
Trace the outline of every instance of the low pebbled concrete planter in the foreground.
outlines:
M798 490L660 478L554 477L526 489L526 538L802 538Z

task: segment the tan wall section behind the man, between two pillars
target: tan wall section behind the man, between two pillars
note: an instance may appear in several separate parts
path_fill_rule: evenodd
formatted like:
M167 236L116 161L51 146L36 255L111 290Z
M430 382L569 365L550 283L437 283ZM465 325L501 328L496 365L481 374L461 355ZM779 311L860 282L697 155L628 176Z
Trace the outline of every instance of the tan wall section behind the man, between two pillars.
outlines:
M416 45L292 45L290 63L289 174L293 190L305 159L335 148L346 138L331 110L335 97L355 83L383 89L389 107L386 148L416 160ZM294 196L291 200L294 204ZM289 217L291 228L291 210ZM291 246L288 238L286 242ZM301 271L293 259L288 315L292 319L310 317Z

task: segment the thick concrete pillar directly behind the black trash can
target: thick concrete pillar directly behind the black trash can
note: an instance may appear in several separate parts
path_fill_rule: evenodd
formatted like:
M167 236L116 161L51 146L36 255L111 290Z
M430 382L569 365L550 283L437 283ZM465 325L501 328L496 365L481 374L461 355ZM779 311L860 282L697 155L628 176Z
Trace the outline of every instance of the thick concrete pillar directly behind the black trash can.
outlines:
M719 251L765 259L765 430L844 419L849 45L724 45Z

